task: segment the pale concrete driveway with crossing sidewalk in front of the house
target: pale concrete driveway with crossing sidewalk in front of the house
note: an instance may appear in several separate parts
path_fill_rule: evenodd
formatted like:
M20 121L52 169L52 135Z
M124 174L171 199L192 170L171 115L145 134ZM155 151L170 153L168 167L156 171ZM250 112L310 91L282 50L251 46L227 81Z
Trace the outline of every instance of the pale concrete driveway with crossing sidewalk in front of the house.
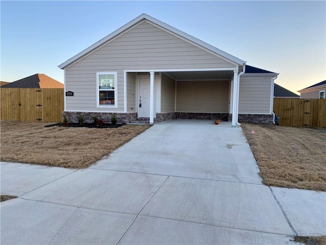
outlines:
M283 188L261 184L241 129L228 122L156 124L88 169L1 170L1 193L19 195L1 204L1 244L292 244L307 231L297 215L291 221ZM42 171L52 171L48 181ZM34 181L19 178L26 173ZM312 197L316 234L323 198Z

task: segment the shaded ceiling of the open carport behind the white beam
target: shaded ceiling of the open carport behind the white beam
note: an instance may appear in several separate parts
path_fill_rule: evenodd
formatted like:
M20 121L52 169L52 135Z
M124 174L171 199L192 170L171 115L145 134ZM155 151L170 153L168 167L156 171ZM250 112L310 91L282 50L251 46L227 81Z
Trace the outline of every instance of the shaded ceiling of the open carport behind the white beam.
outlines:
M163 72L177 81L231 79L232 70L167 71Z

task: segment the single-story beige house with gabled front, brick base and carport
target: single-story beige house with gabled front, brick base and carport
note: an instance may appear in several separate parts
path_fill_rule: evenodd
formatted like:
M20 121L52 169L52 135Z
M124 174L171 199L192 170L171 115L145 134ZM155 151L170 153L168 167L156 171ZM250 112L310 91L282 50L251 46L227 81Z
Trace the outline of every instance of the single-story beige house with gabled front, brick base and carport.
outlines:
M119 121L175 118L273 122L276 72L243 61L147 14L65 61L63 115ZM71 96L73 95L73 96Z

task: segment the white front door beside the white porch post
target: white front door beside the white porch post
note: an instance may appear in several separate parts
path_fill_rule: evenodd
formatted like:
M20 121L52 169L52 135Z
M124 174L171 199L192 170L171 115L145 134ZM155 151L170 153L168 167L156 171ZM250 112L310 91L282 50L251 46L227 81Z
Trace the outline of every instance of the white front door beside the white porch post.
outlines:
M139 79L139 117L149 117L150 79Z

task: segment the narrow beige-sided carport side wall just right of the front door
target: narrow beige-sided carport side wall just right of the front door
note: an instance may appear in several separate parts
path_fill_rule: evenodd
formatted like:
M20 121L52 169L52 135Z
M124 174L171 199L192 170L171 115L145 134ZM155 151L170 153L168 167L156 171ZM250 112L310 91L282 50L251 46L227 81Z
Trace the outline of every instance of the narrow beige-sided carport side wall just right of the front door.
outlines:
M175 106L175 81L165 74L161 76L161 112L173 112Z

